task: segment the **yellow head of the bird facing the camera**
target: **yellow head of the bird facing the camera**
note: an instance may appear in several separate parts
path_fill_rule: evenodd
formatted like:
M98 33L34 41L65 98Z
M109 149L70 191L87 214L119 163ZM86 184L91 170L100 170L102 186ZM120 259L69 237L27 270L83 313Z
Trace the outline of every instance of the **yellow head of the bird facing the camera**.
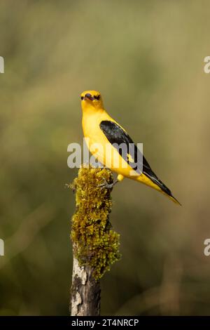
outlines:
M99 110L104 108L102 95L97 91L84 91L80 94L80 98L83 110Z

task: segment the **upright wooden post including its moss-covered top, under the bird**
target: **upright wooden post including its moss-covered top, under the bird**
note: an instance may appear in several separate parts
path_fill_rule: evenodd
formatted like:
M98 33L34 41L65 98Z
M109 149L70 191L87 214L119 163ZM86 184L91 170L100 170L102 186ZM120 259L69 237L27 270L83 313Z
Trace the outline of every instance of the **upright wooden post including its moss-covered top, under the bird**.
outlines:
M71 219L73 275L71 315L100 313L100 279L120 258L119 237L111 229L111 190L99 187L113 182L109 169L82 167L71 187L76 191L76 212Z

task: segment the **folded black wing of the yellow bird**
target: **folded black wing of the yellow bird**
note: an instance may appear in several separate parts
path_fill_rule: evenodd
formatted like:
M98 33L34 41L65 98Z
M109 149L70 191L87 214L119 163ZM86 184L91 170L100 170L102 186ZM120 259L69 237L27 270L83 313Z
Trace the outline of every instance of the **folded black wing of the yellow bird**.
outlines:
M141 154L141 151L137 148L136 145L134 145L134 142L132 138L121 128L118 124L116 124L114 121L109 120L103 120L100 123L100 128L102 132L105 134L106 138L109 140L111 145L113 147L116 147L120 155L127 161L127 164L129 164L134 171L137 171L137 173L144 173L145 176L151 179L153 183L158 185L164 192L172 196L172 192L167 188L167 186L162 183L160 179L155 175L153 170L151 169L151 166L148 164L148 161L146 161L145 157ZM127 150L130 151L130 154L132 155L132 158L134 159L134 163L130 161L125 154L122 154L120 148L118 147L120 144L125 143L127 145ZM142 163L139 163L139 160L143 161Z

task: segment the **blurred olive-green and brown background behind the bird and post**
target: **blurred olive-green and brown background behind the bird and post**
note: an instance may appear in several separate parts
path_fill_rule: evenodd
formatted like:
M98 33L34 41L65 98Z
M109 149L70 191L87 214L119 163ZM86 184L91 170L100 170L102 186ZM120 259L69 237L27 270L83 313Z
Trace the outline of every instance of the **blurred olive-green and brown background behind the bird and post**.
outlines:
M203 0L1 1L1 315L69 314L67 145L82 142L87 89L183 205L132 180L113 190L123 258L102 279L102 315L210 315L209 11Z

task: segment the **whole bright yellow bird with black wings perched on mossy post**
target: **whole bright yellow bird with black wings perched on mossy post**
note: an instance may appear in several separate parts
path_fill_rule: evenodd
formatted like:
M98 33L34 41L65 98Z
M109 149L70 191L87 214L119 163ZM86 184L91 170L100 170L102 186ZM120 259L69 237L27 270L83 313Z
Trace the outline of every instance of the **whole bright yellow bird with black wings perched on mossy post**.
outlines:
M130 178L153 187L167 195L173 202L180 204L169 188L155 175L125 129L106 112L102 95L98 91L84 91L80 94L80 98L83 110L83 133L87 147L100 163L118 173L118 178L113 184L104 183L102 186L112 188L123 178ZM122 143L127 146L128 153L123 153L120 149ZM130 145L133 146L132 152Z

